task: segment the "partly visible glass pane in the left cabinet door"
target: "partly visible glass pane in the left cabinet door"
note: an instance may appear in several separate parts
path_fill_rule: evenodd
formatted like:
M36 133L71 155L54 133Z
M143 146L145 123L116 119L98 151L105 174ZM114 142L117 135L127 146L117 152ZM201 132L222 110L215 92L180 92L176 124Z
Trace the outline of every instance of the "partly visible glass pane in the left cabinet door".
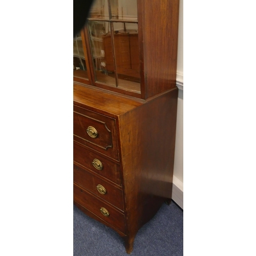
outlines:
M88 79L86 60L83 52L81 34L78 34L73 41L73 71L74 76Z

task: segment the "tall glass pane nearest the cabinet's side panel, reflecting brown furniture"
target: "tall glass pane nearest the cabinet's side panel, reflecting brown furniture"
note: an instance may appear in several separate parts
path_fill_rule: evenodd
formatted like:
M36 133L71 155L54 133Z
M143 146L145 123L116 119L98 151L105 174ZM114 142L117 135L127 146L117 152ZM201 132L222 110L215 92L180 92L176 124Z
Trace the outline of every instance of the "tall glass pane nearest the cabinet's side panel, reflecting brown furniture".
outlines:
M140 59L137 23L113 23L118 87L140 92Z

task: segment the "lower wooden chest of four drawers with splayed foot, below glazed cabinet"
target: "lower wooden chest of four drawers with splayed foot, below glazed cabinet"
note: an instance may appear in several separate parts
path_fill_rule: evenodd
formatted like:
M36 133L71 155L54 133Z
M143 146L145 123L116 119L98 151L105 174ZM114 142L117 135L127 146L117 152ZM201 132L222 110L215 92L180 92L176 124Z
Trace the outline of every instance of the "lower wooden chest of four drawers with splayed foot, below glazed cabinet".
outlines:
M74 84L74 204L133 250L172 197L177 88L148 101Z

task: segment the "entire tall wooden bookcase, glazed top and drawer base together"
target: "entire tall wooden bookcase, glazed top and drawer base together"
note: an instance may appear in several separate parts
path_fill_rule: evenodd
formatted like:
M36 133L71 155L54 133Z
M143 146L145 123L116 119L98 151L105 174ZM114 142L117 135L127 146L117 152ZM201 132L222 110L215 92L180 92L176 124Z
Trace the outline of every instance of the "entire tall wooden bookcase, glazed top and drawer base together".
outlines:
M178 19L179 0L94 0L74 38L74 204L127 253L172 198Z

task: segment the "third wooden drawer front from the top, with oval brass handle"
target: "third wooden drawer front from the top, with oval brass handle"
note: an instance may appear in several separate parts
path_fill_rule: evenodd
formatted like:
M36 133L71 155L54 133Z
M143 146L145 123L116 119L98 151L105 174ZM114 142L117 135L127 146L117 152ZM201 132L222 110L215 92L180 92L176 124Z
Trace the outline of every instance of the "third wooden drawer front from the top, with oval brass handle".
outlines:
M123 211L122 190L74 164L74 182Z

